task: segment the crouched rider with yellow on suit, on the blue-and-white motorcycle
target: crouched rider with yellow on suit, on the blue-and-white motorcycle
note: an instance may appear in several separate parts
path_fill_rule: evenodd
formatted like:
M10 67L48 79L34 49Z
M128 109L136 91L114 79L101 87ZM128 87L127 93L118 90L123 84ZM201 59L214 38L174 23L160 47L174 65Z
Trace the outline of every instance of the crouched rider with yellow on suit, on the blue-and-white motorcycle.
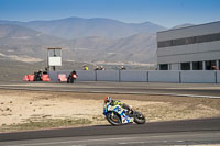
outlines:
M129 112L133 112L132 105L121 103L121 101L119 100L112 100L111 97L105 97L105 104L107 103L109 103L112 106L120 105L121 108L129 110Z

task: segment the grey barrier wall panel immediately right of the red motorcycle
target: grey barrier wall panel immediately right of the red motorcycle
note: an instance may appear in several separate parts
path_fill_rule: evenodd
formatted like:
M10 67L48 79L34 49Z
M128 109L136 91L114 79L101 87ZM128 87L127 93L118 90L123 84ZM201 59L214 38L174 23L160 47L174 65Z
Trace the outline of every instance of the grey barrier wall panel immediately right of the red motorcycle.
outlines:
M96 71L94 70L78 70L77 75L76 81L96 81Z

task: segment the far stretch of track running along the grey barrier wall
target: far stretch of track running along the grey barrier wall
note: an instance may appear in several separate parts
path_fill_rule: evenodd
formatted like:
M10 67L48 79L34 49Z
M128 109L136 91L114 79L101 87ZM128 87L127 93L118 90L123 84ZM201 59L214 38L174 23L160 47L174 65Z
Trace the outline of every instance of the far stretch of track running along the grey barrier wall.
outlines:
M142 93L220 98L218 83L148 83L148 82L76 82L0 83L1 89L28 89L74 92Z

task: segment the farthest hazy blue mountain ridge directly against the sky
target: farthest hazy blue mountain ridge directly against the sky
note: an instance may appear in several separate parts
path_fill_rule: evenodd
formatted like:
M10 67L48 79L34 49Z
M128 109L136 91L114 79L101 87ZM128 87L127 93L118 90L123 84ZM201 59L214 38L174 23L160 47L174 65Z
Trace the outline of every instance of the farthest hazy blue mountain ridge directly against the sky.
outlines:
M88 36L102 36L108 38L121 38L139 33L155 33L166 27L151 23L123 23L110 19L81 19L68 18L52 21L0 21L0 24L19 24L35 31L63 37L78 38Z

